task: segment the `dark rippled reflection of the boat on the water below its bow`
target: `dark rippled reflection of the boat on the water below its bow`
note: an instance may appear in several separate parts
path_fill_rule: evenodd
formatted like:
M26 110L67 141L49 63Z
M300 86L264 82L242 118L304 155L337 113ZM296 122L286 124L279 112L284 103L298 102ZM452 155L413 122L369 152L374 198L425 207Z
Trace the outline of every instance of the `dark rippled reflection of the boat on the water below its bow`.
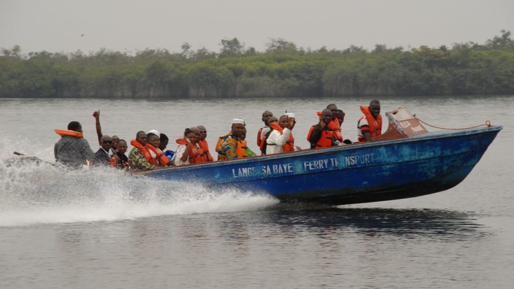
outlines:
M483 225L476 223L473 214L437 209L286 207L268 211L263 220L276 225L289 238L305 230L326 240L339 238L343 233L429 241L476 239L486 234L478 230Z

